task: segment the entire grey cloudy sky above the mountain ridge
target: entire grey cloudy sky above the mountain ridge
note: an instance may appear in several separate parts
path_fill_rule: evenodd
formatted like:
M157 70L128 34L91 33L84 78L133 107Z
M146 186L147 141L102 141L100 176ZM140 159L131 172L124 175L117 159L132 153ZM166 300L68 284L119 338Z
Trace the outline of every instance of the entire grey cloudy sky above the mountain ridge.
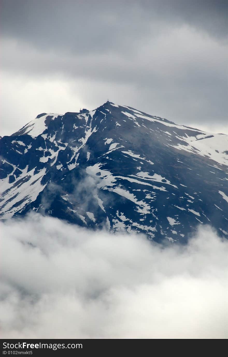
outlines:
M109 100L228 133L227 1L3 0L1 130Z

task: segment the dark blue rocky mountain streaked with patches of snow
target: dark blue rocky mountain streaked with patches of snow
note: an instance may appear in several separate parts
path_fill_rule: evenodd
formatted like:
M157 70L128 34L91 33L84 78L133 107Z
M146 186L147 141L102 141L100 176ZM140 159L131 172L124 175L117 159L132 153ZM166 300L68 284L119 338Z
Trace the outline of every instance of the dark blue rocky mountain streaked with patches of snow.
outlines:
M228 135L106 102L40 114L0 148L1 219L34 210L182 242L209 223L228 237Z

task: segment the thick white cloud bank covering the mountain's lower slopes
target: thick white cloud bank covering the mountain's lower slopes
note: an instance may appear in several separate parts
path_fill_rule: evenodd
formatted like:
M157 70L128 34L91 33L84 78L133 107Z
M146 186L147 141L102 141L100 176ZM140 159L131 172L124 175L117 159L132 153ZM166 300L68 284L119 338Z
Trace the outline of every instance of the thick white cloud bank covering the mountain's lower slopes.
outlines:
M227 338L228 241L185 247L32 215L1 223L1 338Z

